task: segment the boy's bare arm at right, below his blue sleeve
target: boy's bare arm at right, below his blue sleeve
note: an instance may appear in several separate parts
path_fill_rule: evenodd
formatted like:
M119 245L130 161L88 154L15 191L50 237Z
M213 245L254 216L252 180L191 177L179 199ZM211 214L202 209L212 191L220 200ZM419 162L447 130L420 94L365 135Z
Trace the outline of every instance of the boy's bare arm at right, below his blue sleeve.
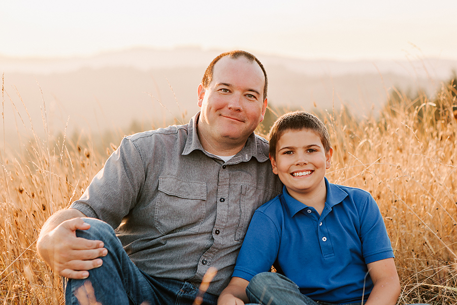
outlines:
M400 280L393 258L367 264L374 287L365 305L394 305L400 296Z

